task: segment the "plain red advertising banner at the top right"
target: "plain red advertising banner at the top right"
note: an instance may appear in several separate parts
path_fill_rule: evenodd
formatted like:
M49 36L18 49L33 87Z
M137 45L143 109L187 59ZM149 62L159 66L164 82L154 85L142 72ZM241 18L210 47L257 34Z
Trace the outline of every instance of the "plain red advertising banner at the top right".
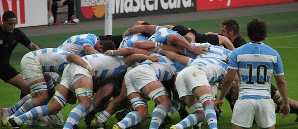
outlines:
M196 0L196 11L296 2L296 0Z

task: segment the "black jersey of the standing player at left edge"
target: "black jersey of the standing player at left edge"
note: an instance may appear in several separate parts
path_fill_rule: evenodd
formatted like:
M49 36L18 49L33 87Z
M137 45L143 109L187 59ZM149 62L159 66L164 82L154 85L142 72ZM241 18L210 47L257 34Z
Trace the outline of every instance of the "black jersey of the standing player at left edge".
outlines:
M12 33L6 33L0 28L0 68L9 65L11 53L18 43L27 47L31 41L18 28L15 28Z

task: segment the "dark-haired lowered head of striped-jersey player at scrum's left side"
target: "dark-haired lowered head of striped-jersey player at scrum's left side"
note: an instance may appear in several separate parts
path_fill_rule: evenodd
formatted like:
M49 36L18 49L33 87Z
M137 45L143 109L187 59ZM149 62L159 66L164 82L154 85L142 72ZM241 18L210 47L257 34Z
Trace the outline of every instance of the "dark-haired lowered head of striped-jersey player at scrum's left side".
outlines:
M94 49L100 53L105 53L107 50L115 50L116 44L112 40L97 40Z

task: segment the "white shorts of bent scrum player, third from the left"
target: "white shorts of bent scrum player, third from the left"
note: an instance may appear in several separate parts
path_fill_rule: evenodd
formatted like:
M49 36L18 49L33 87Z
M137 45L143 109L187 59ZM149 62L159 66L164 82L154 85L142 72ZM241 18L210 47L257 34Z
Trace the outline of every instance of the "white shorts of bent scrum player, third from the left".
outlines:
M158 81L152 66L141 64L130 70L125 78L127 95L133 92L141 93L140 89L148 83Z

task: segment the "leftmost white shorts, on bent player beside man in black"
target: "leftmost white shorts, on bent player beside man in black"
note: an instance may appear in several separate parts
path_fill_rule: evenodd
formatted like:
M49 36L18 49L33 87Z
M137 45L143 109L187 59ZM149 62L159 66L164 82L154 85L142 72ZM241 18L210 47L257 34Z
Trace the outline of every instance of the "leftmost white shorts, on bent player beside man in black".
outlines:
M41 65L32 52L23 56L21 60L21 69L23 78L27 83L43 78Z

